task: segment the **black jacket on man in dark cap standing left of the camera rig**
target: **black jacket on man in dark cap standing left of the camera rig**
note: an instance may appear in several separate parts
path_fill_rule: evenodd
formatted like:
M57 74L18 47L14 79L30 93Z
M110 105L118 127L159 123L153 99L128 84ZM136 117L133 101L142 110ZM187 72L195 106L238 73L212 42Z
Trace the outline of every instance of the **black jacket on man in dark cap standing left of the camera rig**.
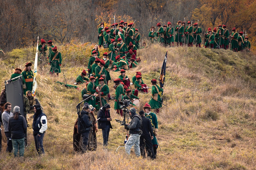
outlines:
M105 111L105 107L102 106L97 114L97 119L99 119L98 120L98 128L99 129L105 129L107 122L110 125L110 128L113 129L110 121L108 121L107 118L110 118L110 112L109 112L109 110Z

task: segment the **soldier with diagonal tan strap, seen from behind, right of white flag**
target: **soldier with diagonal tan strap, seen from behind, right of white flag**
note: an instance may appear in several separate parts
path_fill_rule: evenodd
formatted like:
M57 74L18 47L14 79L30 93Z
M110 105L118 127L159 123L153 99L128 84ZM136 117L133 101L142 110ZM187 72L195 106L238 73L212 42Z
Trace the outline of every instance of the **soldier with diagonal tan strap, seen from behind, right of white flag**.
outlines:
M57 46L52 48L51 56L50 56L50 74L57 73L57 76L59 76L60 66L61 66L61 53L58 51Z

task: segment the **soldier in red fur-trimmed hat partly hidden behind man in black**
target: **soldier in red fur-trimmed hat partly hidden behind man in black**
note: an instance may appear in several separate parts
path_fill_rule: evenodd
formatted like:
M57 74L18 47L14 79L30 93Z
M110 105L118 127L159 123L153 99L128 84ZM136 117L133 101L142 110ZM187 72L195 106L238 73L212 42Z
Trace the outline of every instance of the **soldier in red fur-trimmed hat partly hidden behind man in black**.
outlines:
M153 144L153 150L154 150L154 154L156 155L157 153L157 148L158 148L158 143L157 143L157 140L156 140L156 136L158 134L158 122L157 122L157 117L156 117L156 114L151 112L151 106L146 103L144 106L143 106L143 110L145 112L145 117L149 118L150 119L150 122L151 122L151 125L152 125L152 128L153 128L153 139L152 139L152 144Z

